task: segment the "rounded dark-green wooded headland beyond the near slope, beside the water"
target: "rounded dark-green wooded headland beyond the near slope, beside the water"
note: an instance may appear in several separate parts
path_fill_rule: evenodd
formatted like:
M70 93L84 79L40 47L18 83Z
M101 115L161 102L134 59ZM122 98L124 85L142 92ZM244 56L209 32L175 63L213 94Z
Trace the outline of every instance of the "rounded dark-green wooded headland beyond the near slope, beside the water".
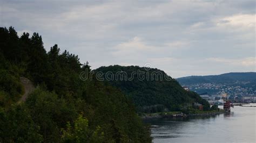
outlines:
M205 99L202 99L196 92L185 91L174 78L166 75L162 70L114 65L100 67L94 71L95 73L102 72L102 77L106 78L107 83L110 82L114 87L120 88L127 98L133 101L138 112L187 112L194 103L203 104L204 110L210 110L210 105ZM110 72L112 74L109 74ZM145 78L140 79L138 75L143 72ZM125 75L120 73L125 73ZM125 76L127 80L123 79ZM131 77L132 80L129 80ZM113 78L113 80L108 80L108 78Z

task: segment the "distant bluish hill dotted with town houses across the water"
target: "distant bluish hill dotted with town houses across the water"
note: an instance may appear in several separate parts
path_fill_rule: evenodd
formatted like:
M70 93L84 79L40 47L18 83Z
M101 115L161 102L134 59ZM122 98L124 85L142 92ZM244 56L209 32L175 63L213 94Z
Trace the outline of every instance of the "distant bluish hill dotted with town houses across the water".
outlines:
M226 73L208 76L187 76L177 78L181 85L193 91L230 95L250 96L256 94L256 73Z

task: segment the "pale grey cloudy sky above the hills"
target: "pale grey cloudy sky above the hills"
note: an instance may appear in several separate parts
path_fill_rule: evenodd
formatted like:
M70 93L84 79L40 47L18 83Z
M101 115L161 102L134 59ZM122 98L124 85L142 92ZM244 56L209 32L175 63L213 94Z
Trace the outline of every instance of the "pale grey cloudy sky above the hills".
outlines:
M151 65L172 77L255 71L255 1L4 1L0 26L38 32L92 68Z

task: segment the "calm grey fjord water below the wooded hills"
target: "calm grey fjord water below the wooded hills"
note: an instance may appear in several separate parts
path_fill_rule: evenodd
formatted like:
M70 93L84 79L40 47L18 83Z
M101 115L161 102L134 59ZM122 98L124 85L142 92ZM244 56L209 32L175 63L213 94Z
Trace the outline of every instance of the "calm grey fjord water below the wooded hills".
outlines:
M145 122L152 125L153 142L256 142L255 119L256 107L234 106L230 113L216 116Z

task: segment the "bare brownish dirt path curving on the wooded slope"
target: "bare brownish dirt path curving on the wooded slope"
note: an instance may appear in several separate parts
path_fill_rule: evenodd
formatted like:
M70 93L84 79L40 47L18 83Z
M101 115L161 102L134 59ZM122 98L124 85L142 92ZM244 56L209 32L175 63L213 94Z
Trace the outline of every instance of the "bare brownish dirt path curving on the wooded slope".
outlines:
M19 80L21 80L21 83L24 87L25 93L22 95L21 99L19 99L18 103L26 101L26 97L32 92L35 87L33 83L26 77L20 77Z

